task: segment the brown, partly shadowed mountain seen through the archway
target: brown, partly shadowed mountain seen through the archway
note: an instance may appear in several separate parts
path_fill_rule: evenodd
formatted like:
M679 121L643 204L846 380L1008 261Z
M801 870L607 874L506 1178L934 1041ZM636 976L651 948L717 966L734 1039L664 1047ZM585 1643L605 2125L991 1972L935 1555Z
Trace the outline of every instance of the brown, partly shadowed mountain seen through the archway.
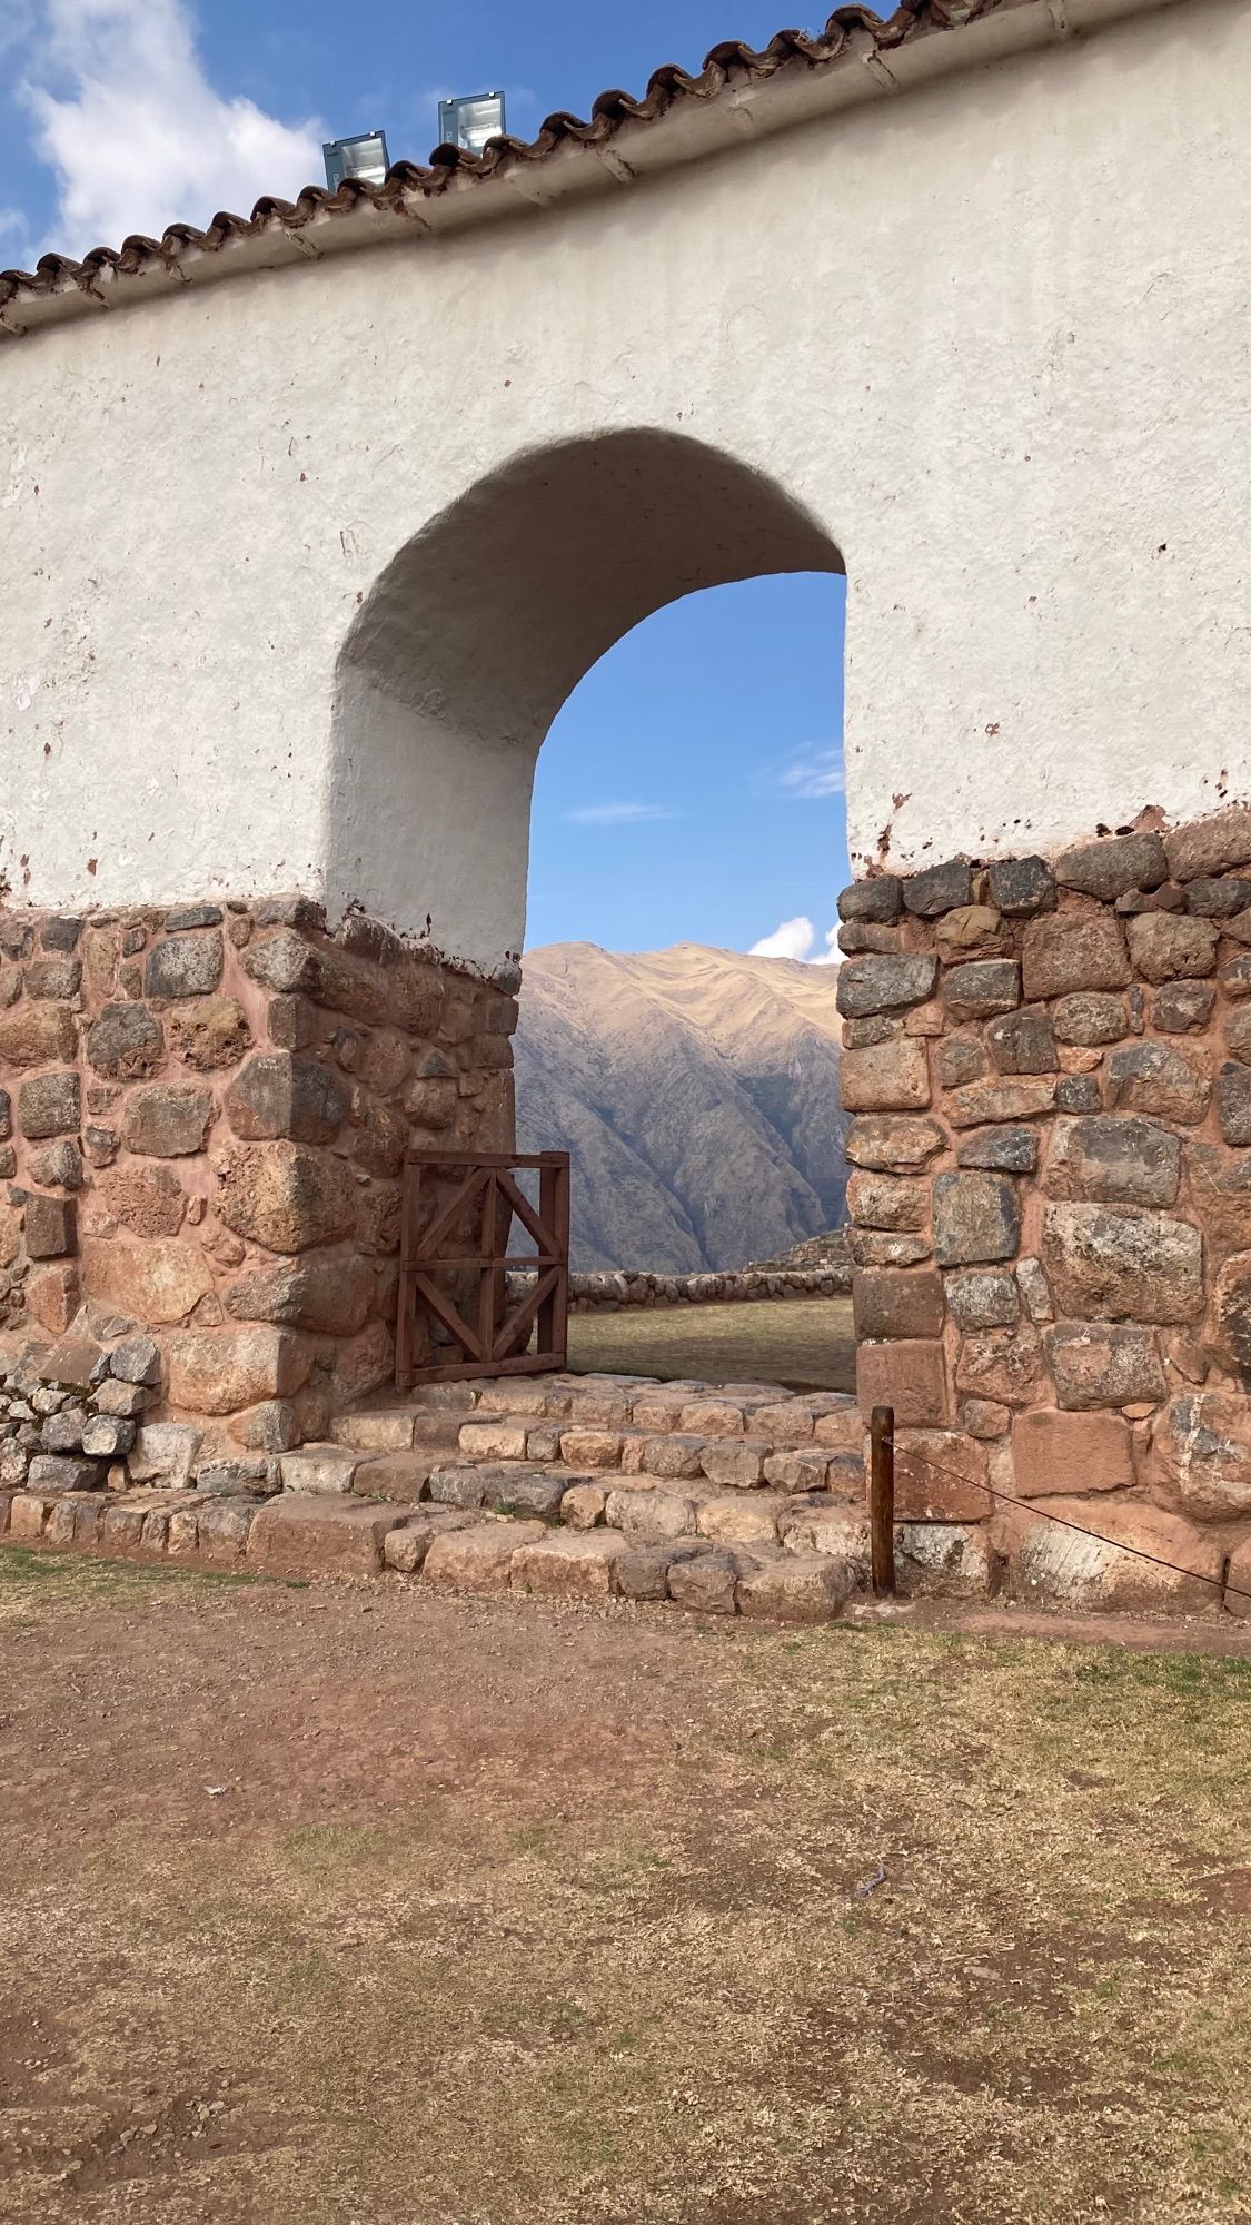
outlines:
M844 1217L837 972L679 943L523 966L521 1150L572 1159L572 1264L772 1259Z

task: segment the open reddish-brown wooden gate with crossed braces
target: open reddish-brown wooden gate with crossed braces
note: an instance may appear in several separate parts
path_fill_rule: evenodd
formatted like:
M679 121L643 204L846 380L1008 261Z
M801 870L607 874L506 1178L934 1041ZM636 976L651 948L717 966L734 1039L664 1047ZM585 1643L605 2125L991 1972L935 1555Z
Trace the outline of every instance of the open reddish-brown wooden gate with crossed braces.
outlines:
M539 1206L514 1179L530 1168ZM514 1217L534 1253L508 1253ZM508 1273L521 1268L534 1284L510 1302ZM412 1150L403 1168L396 1386L563 1368L568 1317L570 1155ZM452 1337L445 1359L434 1357L434 1322Z

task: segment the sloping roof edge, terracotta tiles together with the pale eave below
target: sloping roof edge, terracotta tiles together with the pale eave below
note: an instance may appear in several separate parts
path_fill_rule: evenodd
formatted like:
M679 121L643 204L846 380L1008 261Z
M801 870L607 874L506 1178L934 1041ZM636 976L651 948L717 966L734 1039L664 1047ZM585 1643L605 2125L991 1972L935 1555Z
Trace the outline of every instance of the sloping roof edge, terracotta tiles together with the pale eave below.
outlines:
M1097 31L1180 0L902 0L890 18L837 7L808 38L779 31L764 51L721 44L703 71L654 71L641 100L601 93L592 120L550 116L530 142L490 140L481 156L441 147L430 167L396 162L383 185L305 187L265 196L249 218L220 214L198 231L169 225L160 240L131 236L73 263L42 256L36 271L0 271L0 338L22 338L76 316L102 316L185 285L280 269L327 254L619 194L641 178L701 160L819 116L888 100L924 85Z

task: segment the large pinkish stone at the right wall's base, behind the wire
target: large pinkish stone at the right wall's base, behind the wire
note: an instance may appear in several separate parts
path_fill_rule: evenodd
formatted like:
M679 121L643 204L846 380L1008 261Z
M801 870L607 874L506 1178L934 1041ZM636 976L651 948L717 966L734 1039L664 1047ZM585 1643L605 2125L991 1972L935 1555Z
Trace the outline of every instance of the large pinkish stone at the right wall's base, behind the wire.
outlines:
M1037 1520L1015 1517L1004 1526L1011 1542L1011 1582L1019 1598L1077 1613L1202 1615L1220 1602L1224 1558L1220 1549L1178 1515L1135 1500L1082 1497L1037 1500ZM1077 1535L1046 1520L1077 1524L1100 1535ZM1151 1553L1140 1560L1135 1551ZM1175 1573L1180 1571L1180 1573Z

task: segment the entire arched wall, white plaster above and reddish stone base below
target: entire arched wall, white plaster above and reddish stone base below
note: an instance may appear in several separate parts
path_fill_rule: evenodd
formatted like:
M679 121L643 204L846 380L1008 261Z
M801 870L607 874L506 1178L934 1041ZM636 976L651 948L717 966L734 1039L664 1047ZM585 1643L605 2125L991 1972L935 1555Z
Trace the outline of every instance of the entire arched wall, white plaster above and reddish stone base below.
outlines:
M405 1148L512 1137L552 716L674 596L846 570L864 1400L1220 1569L1251 4L719 56L0 278L7 1326L116 1308L247 1446L383 1382Z

